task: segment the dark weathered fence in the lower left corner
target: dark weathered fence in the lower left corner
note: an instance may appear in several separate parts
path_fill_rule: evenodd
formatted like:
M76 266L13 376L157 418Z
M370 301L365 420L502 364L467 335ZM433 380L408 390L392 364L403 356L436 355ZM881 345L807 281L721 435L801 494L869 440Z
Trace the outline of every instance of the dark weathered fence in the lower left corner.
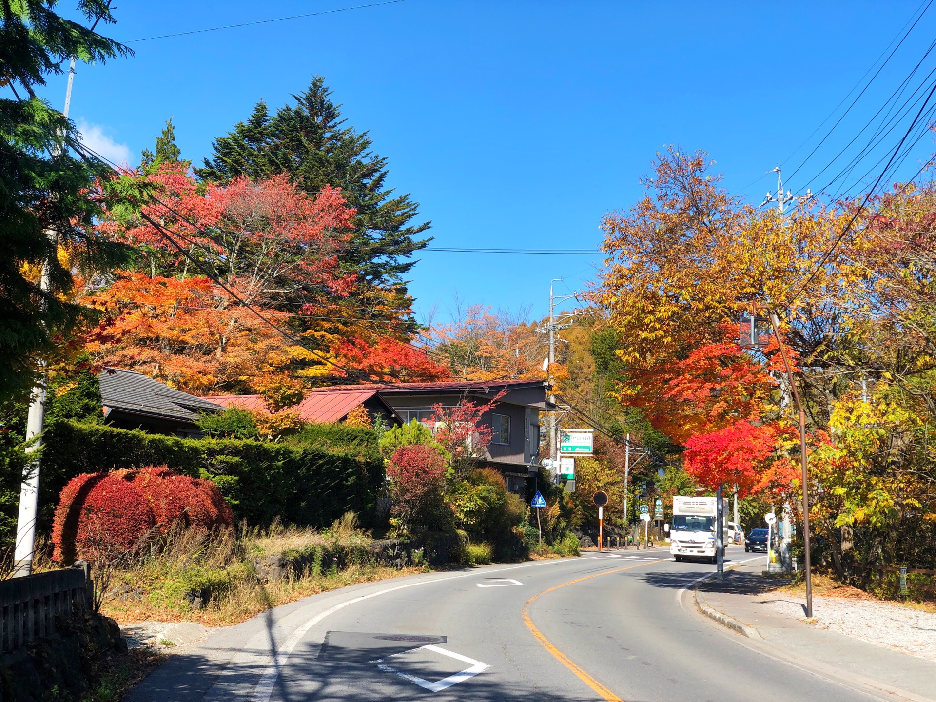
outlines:
M72 603L91 611L94 583L91 567L79 561L72 568L0 580L0 612L4 652L55 631L55 617L71 617Z

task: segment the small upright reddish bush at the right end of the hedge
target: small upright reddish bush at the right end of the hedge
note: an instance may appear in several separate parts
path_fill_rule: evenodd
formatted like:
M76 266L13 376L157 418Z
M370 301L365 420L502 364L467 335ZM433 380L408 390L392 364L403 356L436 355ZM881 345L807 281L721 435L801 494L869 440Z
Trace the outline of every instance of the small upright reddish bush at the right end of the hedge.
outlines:
M392 514L408 531L414 526L439 526L436 519L444 506L442 486L446 461L432 446L400 446L387 465Z

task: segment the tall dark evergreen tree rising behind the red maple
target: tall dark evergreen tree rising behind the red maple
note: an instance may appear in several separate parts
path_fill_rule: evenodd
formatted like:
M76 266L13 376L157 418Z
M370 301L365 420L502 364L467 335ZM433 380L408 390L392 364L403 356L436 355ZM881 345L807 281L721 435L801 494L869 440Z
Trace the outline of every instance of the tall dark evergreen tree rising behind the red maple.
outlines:
M402 259L430 241L416 237L431 223L411 224L418 203L385 188L387 159L371 151L367 132L344 125L341 106L330 95L325 79L315 76L308 90L293 95L294 106L271 116L266 103L258 102L246 122L213 142L214 155L196 173L216 183L288 173L310 193L340 187L358 210L351 245L340 256L345 270L357 273L364 286L393 286L404 296L402 274L415 261Z

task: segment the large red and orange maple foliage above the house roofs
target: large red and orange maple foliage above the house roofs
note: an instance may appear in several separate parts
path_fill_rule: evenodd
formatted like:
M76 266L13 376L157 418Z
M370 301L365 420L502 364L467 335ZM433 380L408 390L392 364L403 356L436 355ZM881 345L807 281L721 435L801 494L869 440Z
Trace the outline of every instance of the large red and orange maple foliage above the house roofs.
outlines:
M313 197L284 175L205 185L181 163L125 177L145 179L153 195L100 225L143 252L137 270L117 271L87 296L114 332L88 345L101 362L194 392L260 392L278 405L332 378L446 374L408 343L402 321L387 335L355 318L396 321L394 291L376 291L373 309L344 305L356 276L337 254L355 211L340 190Z

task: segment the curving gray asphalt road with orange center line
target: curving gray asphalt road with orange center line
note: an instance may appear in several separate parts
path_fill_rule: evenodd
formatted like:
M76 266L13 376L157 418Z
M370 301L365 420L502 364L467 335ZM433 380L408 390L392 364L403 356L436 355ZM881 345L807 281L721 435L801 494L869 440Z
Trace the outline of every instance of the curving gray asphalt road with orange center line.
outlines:
M743 548L728 556L755 557ZM631 550L324 593L173 656L126 699L879 698L758 652L701 617L680 591L713 570Z

